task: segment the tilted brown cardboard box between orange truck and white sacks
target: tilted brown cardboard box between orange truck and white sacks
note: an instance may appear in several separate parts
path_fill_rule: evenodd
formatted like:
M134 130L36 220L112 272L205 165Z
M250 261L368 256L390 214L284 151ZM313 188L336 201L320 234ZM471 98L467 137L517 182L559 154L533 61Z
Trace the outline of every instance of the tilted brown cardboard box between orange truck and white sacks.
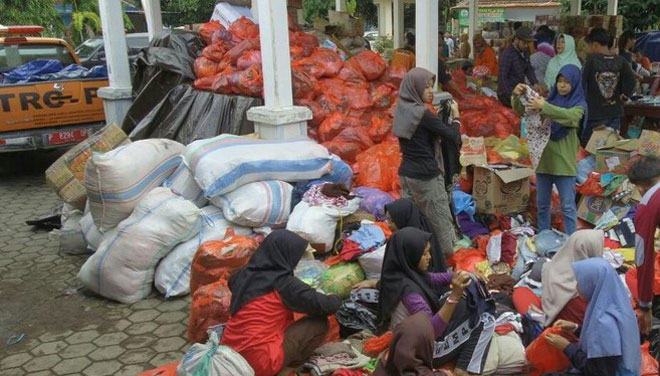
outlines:
M82 182L85 178L85 166L92 152L105 153L130 142L121 128L110 124L74 146L48 167L46 182L64 202L83 210L87 190Z

